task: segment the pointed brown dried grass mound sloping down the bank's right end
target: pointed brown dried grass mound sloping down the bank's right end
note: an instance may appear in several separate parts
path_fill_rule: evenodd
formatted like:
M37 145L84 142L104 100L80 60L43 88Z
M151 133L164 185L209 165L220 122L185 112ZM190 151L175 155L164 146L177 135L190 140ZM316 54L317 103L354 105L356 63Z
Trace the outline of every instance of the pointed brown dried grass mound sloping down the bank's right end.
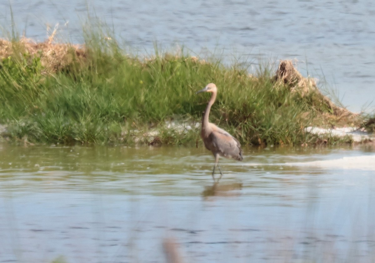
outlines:
M327 119L343 120L344 122L353 122L358 114L348 111L345 108L335 105L327 96L320 93L314 79L304 78L293 66L291 60L281 60L276 75L273 77L275 82L280 82L290 87L291 92L297 92L301 97L312 95L314 105L323 105L328 110L322 112L321 117ZM321 109L322 107L317 107Z

